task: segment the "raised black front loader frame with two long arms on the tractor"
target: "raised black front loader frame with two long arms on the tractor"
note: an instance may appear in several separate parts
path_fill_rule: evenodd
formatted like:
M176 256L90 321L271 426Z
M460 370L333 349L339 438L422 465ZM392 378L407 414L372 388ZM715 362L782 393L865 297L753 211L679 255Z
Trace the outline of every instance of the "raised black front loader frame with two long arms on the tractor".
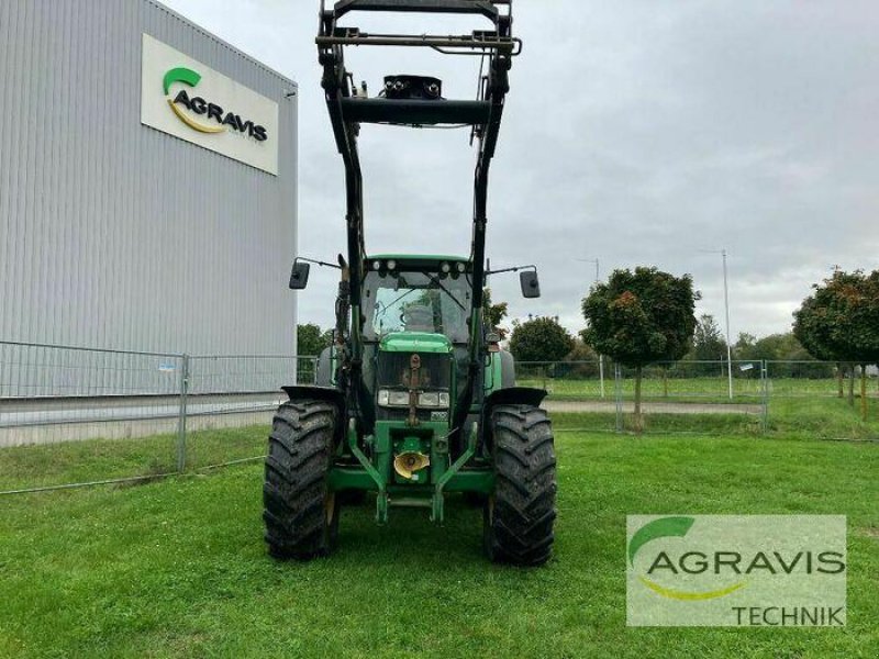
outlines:
M394 11L449 14L476 14L489 19L493 30L461 36L368 34L344 27L340 20L355 11ZM363 412L363 431L371 434L375 404L363 382L363 324L360 287L366 257L364 239L363 172L357 150L361 123L397 125L467 124L478 144L474 175L474 221L470 245L474 294L470 309L468 378L458 392L452 436L459 442L467 415L471 412L480 369L482 336L482 283L486 278L486 225L488 223L488 182L491 160L498 143L503 105L510 90L512 58L522 49L513 38L512 0L341 0L332 9L321 2L320 31L316 41L323 67L321 85L333 126L336 148L345 165L347 263L344 276L349 292L351 319L337 317L337 345L341 351L340 386L347 390ZM345 68L344 49L351 46L429 47L445 54L474 54L487 59L487 74L480 81L477 100L391 100L364 98L352 83ZM346 340L347 339L347 340ZM363 461L363 460L361 460ZM366 465L364 465L366 467ZM449 477L452 478L452 477ZM446 485L446 483L443 483ZM450 485L450 482L448 483Z

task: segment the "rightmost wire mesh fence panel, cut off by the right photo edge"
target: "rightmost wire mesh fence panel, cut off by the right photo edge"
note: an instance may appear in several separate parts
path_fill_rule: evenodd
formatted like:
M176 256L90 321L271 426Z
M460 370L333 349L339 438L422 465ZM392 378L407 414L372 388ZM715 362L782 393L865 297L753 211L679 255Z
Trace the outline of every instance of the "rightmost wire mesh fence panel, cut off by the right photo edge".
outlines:
M855 365L767 361L766 368L768 432L808 439L879 440L879 378L870 369L861 396L860 367Z

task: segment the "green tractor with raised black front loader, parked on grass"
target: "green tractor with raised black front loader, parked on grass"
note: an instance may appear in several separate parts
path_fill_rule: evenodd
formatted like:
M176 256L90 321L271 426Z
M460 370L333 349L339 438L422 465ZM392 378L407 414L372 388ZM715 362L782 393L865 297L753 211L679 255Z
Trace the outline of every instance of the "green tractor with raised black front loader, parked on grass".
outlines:
M349 12L472 14L493 27L464 36L374 35L338 22ZM376 521L393 507L423 507L442 523L449 496L483 509L491 560L538 566L549 558L556 516L556 458L546 392L515 387L512 356L483 321L488 172L521 42L512 0L341 0L321 3L318 49L336 145L346 172L347 257L299 258L290 288L305 288L310 265L338 268L334 345L315 386L283 390L264 485L271 556L301 560L331 552L341 506L375 496ZM442 96L442 81L388 76L369 98L344 64L348 46L429 47L485 58L476 100ZM469 257L372 255L364 242L357 135L361 124L471 126L478 145ZM534 266L520 271L526 298L539 295Z

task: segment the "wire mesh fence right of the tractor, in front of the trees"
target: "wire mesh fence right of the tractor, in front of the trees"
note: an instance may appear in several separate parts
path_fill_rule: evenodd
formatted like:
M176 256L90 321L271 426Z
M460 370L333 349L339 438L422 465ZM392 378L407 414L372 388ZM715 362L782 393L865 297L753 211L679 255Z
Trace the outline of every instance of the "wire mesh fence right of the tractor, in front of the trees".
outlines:
M636 375L607 358L516 365L519 384L546 389L550 411L577 413L589 431L638 429ZM858 368L823 361L652 364L641 372L641 429L879 440L879 379L868 379L864 421L859 377Z

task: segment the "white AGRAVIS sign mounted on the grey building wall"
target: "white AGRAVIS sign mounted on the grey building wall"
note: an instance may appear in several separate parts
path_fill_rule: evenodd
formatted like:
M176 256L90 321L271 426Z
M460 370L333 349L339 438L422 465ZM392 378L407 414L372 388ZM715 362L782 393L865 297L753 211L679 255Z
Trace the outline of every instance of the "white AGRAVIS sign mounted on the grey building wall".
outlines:
M141 122L278 174L278 104L143 35Z

